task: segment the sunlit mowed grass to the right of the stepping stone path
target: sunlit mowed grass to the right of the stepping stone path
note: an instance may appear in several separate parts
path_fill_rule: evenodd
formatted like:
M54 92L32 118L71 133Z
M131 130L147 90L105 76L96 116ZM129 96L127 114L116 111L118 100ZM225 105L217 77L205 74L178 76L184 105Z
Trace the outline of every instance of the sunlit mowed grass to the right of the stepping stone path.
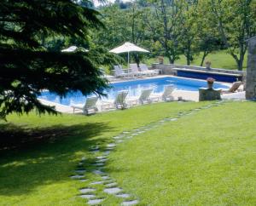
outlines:
M108 171L142 205L256 205L255 102L226 103L127 140Z

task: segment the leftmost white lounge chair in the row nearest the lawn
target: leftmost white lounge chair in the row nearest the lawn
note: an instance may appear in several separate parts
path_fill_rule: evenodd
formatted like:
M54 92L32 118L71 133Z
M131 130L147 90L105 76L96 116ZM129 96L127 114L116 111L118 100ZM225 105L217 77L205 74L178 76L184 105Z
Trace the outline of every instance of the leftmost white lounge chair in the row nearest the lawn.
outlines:
M81 110L85 115L97 112L98 109L96 107L96 102L98 99L98 97L88 97L84 105L78 104L71 106L73 108L73 113L75 112L75 110Z

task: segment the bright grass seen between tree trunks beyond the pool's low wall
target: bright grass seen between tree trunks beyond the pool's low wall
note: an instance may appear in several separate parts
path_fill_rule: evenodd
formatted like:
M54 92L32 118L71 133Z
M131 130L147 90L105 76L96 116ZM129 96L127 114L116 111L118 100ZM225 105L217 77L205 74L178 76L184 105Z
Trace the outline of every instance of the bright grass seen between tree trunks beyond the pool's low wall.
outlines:
M195 56L195 60L191 62L191 65L200 66L201 64L202 54ZM237 70L236 61L231 57L230 54L226 54L225 51L218 51L212 54L208 54L206 60L210 60L212 62L212 68L223 68L223 69L231 69ZM145 60L148 65L151 65L154 62L158 62L156 59ZM168 60L165 59L165 63L168 64ZM186 65L187 61L184 55L180 56L179 60L175 61L177 65ZM245 55L245 60L243 64L243 69L245 70L247 67L247 54Z

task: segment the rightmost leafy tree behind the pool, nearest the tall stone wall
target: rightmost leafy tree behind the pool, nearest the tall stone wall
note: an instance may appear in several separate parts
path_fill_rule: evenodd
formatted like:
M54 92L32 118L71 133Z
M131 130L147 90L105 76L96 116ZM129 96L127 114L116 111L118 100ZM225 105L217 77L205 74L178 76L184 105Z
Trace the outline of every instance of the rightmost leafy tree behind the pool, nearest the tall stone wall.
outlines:
M206 3L206 2L202 2ZM208 0L219 36L228 53L236 60L238 70L242 70L247 39L256 34L256 6L253 0Z

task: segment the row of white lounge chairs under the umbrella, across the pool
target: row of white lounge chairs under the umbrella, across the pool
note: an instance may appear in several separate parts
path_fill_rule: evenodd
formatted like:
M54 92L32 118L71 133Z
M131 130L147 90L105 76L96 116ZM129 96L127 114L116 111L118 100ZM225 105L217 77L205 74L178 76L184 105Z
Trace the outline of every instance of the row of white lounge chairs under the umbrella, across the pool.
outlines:
M157 70L148 70L148 66L145 64L140 64L139 67L137 67L137 64L130 64L130 68L126 70L120 65L113 66L113 68L115 77L143 77L159 74L159 71Z

